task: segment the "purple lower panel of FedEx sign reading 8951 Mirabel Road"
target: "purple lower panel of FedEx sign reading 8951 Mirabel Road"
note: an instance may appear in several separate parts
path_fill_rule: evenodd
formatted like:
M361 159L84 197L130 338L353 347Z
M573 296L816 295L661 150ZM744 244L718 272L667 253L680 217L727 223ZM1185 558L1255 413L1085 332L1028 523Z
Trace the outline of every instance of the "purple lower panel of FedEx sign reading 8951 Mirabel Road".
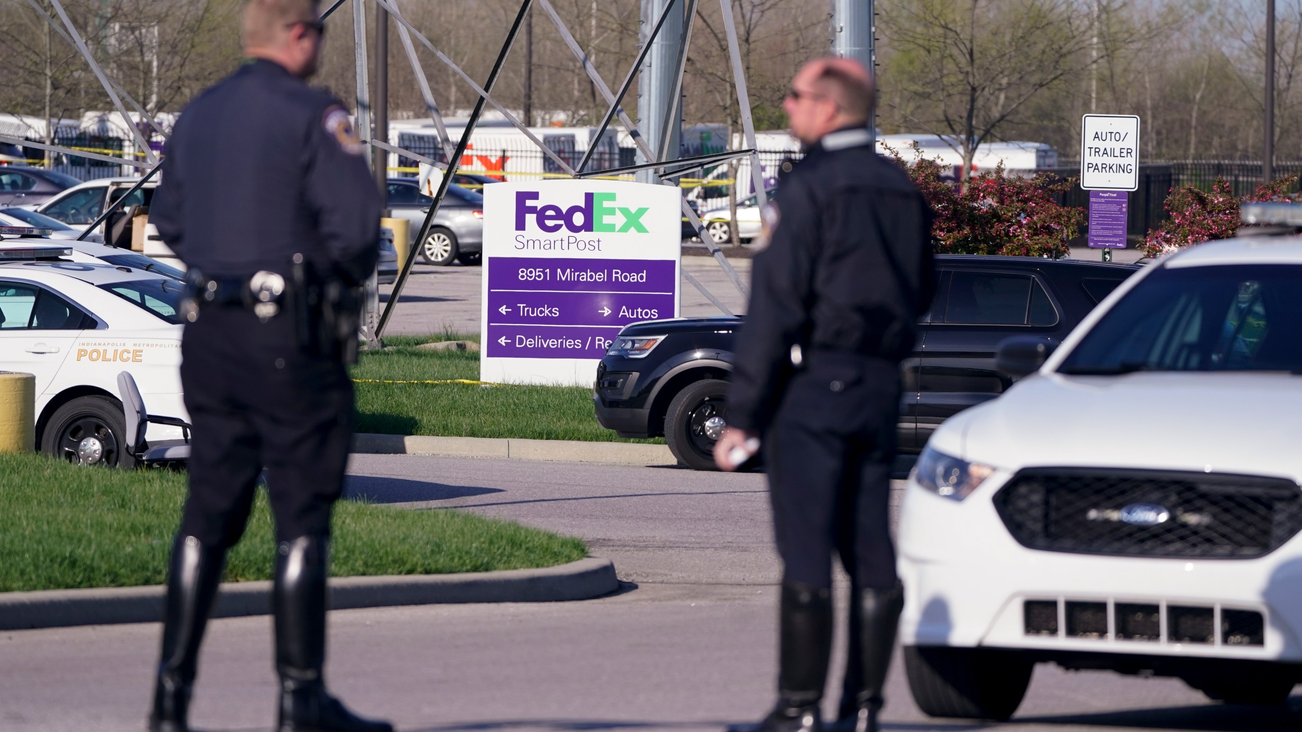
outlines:
M658 259L493 257L492 358L600 358L620 328L674 317L677 263Z

